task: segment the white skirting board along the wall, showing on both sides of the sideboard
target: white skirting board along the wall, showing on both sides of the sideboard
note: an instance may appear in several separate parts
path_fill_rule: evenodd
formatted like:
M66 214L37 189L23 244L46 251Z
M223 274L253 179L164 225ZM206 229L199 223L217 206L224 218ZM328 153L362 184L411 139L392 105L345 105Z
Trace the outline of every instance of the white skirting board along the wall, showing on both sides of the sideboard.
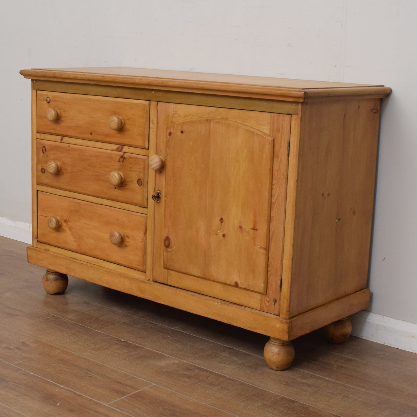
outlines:
M32 225L0 216L0 236L31 244ZM350 319L353 336L417 353L417 324L369 311L359 311Z

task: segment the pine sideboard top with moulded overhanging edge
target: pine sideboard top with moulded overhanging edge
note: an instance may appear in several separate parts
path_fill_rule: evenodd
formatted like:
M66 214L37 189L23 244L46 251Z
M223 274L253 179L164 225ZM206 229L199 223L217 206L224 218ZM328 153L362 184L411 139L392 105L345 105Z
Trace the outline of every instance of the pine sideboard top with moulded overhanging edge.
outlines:
M21 70L20 74L33 80L117 85L299 102L307 97L309 99L338 96L387 97L391 93L391 88L383 85L126 67L39 68Z

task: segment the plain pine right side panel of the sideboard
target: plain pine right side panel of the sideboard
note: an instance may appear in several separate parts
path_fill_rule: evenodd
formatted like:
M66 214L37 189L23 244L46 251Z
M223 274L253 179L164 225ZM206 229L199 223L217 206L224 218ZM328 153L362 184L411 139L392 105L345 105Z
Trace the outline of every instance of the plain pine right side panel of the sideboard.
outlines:
M282 317L366 288L379 106L380 99L303 105L294 254Z

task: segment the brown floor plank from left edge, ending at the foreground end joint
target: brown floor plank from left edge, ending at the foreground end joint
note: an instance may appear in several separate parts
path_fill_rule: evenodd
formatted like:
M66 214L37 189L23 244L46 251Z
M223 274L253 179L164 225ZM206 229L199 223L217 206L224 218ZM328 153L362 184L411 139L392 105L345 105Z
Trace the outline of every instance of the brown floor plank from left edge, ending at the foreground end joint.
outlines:
M0 325L0 360L108 403L149 382Z

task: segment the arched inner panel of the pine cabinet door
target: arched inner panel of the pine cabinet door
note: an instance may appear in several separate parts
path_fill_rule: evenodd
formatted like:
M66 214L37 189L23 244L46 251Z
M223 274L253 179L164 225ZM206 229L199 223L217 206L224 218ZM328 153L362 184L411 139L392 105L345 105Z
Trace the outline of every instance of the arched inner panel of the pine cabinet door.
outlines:
M264 293L273 141L206 119L166 134L164 268Z

